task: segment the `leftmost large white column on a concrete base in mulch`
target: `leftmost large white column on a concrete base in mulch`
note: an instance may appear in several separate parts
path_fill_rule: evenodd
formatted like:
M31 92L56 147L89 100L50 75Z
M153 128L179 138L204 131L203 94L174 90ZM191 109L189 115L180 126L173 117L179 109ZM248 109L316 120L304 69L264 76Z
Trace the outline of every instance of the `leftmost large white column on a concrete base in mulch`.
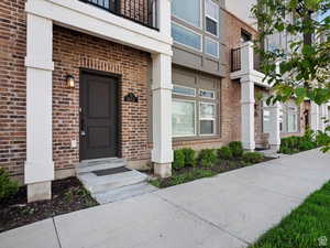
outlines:
M28 13L26 33L26 161L28 201L52 197L53 23Z

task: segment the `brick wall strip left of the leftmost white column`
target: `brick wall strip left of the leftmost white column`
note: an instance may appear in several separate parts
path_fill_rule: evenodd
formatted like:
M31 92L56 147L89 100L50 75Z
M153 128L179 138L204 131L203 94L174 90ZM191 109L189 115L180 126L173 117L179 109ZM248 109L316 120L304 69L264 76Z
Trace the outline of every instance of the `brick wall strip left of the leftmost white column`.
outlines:
M25 161L24 0L0 1L0 165L12 175Z

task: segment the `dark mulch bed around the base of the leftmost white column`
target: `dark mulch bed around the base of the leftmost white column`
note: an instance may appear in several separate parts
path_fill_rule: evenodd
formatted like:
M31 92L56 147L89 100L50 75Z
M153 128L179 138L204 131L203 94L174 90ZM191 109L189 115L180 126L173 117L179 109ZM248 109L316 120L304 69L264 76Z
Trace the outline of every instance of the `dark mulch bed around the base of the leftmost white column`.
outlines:
M51 201L28 203L26 186L22 186L15 195L0 201L0 233L98 205L76 177L54 181L52 195Z

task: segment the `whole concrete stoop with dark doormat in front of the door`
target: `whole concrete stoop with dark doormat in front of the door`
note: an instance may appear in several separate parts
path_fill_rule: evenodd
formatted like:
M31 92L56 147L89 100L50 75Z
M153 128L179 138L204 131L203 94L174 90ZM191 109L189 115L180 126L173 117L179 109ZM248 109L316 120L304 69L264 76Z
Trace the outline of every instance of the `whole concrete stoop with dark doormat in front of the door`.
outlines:
M147 175L128 169L123 159L82 161L76 168L77 176L99 204L113 203L154 192Z

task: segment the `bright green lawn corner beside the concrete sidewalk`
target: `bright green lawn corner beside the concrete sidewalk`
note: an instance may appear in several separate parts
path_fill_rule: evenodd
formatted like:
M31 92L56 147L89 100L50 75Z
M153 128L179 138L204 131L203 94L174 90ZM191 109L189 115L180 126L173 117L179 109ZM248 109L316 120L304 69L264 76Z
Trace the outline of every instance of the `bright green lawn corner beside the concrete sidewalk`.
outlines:
M250 248L320 247L330 247L330 182Z

